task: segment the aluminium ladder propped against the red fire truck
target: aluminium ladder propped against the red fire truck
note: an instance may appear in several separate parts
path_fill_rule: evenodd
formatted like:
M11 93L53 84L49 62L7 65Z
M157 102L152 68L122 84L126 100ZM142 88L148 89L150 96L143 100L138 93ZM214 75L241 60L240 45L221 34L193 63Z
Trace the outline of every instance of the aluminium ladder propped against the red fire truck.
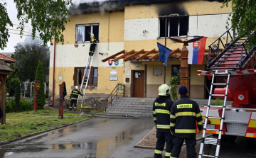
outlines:
M223 131L223 122L224 122L224 116L225 116L225 106L226 106L226 101L228 98L228 84L229 84L229 80L230 80L230 73L228 72L229 69L225 69L224 72L218 72L218 70L215 70L215 73L213 73L213 78L212 78L212 83L210 85L210 95L209 95L209 100L208 100L208 106L207 106L207 111L206 111L206 120L204 122L204 126L203 126L203 137L202 137L202 142L201 142L201 146L200 146L200 151L199 151L199 157L198 158L203 158L203 157L215 157L218 158L219 157L219 153L220 153L220 140L221 140L221 136L222 136L222 131ZM218 76L228 76L227 82L226 84L218 84L218 83L214 83L214 77L215 74ZM225 85L226 89L225 89L225 94L213 94L213 85ZM210 100L212 96L225 96L224 98L224 103L223 106L211 106L210 105ZM222 115L221 118L218 117L210 117L209 116L209 111L210 108L222 108ZM210 129L207 128L207 124L208 124L208 119L218 119L220 120L220 129ZM218 133L218 138L209 138L206 137L206 130L210 130L210 131L216 131L219 132ZM216 151L215 151L215 156L213 155L208 155L208 154L203 154L203 147L204 145L217 145L216 147Z

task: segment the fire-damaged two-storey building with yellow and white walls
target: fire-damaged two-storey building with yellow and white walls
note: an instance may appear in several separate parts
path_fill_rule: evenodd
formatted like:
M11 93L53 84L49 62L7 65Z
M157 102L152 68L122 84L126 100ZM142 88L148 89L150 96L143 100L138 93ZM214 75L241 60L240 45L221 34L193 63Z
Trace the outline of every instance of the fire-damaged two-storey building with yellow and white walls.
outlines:
M125 85L127 97L156 97L159 85L164 83L164 65L159 60L117 60L102 62L117 52L142 52L154 50L156 43L165 43L165 19L167 18L168 37L187 39L188 36L206 36L208 45L226 30L231 8L222 6L220 1L100 1L79 4L70 8L70 22L66 24L64 45L50 47L50 84L55 96L58 84L65 81L68 94L74 86L80 85L87 62L90 33L94 33L99 43L95 50L93 69L86 94L88 97L106 97L117 84ZM225 39L223 39L225 40ZM180 43L166 40L171 50L182 47ZM54 60L55 54L55 60ZM137 56L139 57L139 55ZM53 63L55 78L53 79ZM178 73L180 60L169 60L166 67L166 83ZM205 77L199 77L198 69L206 69L203 64L191 64L190 96L208 96ZM114 70L114 74L110 72Z

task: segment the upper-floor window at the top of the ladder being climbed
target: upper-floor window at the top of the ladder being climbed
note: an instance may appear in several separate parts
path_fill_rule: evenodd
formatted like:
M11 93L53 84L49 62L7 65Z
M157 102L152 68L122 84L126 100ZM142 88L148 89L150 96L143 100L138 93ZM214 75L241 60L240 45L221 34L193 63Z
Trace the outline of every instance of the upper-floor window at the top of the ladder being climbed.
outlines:
M86 43L90 42L90 35L93 33L95 38L99 40L99 27L100 24L85 24L76 26L76 43Z

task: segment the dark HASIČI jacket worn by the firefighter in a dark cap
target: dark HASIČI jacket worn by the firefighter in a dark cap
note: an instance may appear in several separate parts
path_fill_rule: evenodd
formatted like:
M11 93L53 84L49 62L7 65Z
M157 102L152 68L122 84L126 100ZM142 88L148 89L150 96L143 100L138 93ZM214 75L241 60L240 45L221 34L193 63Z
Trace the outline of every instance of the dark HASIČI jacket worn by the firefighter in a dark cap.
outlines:
M202 115L198 103L183 95L171 108L171 132L177 137L196 137L196 121L198 129L203 129Z

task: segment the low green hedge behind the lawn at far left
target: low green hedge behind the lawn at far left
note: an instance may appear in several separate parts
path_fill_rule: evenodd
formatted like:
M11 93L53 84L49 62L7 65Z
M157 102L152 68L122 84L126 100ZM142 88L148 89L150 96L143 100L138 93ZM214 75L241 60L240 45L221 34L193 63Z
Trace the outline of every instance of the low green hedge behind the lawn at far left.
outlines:
M19 112L22 111L33 111L33 103L25 99L20 100ZM16 103L14 99L6 100L6 113L16 112Z

